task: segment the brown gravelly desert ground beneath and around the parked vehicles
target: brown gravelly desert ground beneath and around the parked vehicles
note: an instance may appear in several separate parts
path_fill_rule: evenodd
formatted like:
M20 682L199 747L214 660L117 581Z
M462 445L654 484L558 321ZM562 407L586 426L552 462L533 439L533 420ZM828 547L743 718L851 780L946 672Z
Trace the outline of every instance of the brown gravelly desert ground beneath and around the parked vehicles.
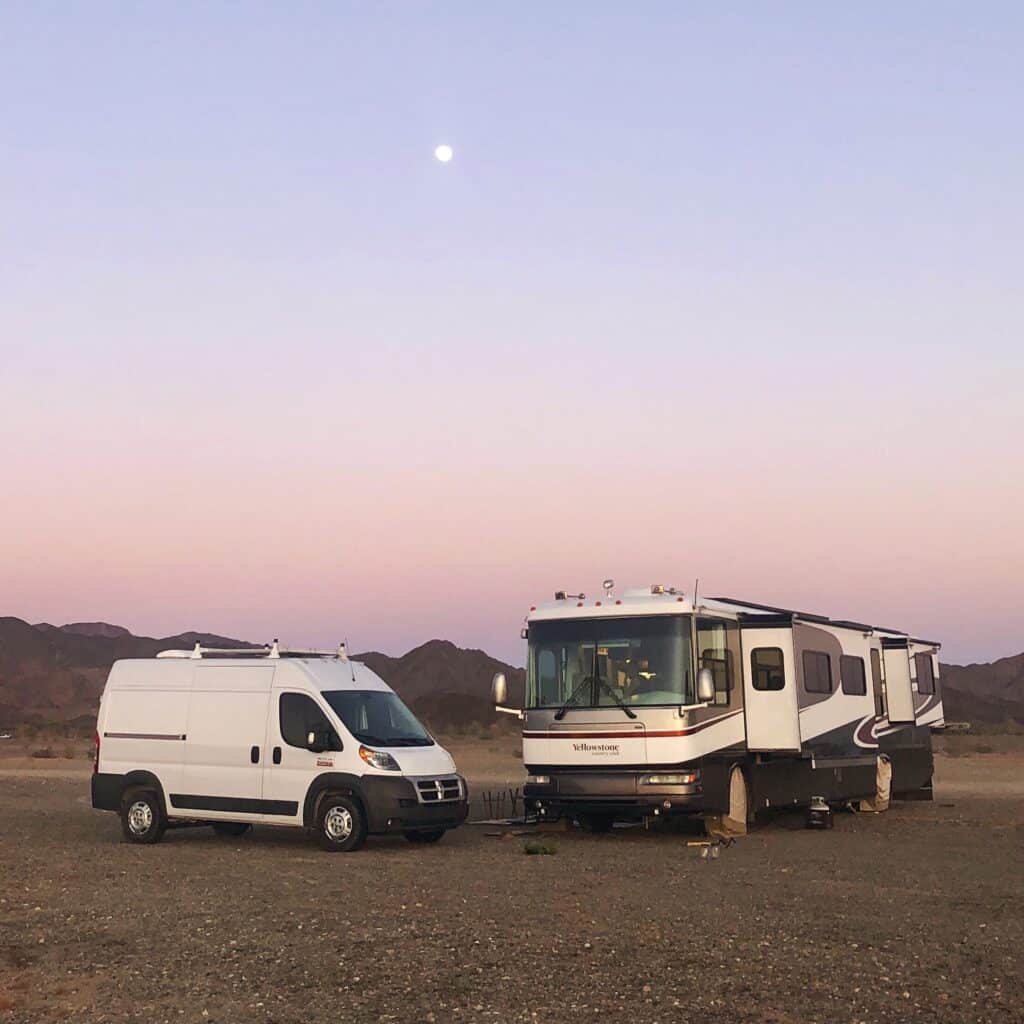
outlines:
M521 780L512 737L449 745L476 793ZM779 818L705 860L640 828L554 827L548 856L483 825L350 855L272 828L129 846L81 741L12 744L0 1021L1019 1022L1024 752L947 746L934 803Z

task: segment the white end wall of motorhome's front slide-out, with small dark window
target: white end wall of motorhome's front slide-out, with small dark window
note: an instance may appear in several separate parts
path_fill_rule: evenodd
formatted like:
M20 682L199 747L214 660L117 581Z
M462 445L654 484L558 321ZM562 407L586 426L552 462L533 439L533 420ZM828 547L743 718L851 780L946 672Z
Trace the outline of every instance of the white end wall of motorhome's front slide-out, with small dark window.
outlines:
M748 750L798 752L800 712L793 631L744 626L740 639Z

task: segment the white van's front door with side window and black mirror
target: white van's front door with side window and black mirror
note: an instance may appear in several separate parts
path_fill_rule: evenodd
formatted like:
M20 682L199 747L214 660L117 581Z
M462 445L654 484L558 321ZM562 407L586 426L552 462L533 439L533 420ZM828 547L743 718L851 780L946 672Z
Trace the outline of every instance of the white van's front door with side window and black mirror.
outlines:
M328 750L306 744L310 732L326 735ZM263 806L267 821L301 821L309 784L328 771L342 771L341 737L319 699L298 690L274 690L266 722L268 757L263 765Z

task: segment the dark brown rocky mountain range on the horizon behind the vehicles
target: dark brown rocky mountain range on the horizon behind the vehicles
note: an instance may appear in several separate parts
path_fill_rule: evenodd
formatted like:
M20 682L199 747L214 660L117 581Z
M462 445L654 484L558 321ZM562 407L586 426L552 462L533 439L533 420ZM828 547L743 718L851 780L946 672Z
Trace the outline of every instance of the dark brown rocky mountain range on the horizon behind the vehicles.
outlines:
M137 637L110 623L35 625L0 617L0 727L60 723L89 728L112 663L153 657L196 643L214 647L255 644L212 633ZM490 705L490 679L504 672L510 702L522 699L525 673L482 650L430 640L400 657L379 651L353 654L384 679L416 714L438 731L505 721ZM947 721L987 729L1024 723L1024 653L984 665L943 665Z

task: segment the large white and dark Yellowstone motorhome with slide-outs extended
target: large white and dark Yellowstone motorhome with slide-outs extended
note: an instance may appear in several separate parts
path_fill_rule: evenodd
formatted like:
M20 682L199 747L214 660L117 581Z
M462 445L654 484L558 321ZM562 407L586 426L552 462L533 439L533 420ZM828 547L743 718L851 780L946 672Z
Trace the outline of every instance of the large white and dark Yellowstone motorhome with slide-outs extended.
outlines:
M615 819L931 799L939 644L899 630L671 587L558 593L530 609L527 808ZM886 794L888 798L889 794Z

